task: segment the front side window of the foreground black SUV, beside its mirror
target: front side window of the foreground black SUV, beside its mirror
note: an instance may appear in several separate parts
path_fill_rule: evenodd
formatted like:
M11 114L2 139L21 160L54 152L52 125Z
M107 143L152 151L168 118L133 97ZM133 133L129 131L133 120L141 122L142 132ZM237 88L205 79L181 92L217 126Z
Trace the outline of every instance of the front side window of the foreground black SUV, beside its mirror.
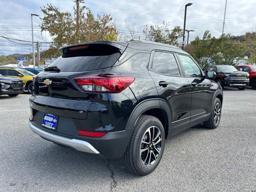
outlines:
M189 56L179 54L179 57L185 71L185 76L202 77L201 70Z

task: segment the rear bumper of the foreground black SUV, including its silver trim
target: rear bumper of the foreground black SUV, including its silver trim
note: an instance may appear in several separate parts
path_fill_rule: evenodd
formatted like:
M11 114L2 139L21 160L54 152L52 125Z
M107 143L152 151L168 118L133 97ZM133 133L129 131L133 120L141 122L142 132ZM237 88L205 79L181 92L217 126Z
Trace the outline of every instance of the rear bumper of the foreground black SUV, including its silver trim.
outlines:
M29 122L29 127L33 132L46 140L72 147L78 151L96 154L103 158L122 157L133 132L133 128L126 128L124 131L108 132L106 135L100 138L80 135L71 137L37 126L33 123L33 121L31 121L31 119Z

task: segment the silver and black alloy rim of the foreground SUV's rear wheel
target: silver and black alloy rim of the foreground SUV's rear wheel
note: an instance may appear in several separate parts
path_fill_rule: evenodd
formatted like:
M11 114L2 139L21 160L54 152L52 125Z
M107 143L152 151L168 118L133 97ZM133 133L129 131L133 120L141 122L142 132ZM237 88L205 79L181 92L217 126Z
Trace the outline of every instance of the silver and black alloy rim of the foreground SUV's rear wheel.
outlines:
M140 143L140 160L144 166L152 166L160 155L162 134L156 126L146 130Z

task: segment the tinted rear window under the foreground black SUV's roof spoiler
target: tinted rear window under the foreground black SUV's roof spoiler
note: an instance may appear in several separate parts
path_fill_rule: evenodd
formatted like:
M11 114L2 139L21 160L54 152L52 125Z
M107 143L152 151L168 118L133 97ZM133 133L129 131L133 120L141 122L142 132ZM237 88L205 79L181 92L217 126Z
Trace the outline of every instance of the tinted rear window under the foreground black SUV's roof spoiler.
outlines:
M120 56L120 50L114 46L89 44L64 49L50 66L58 66L60 72L96 70L113 66Z

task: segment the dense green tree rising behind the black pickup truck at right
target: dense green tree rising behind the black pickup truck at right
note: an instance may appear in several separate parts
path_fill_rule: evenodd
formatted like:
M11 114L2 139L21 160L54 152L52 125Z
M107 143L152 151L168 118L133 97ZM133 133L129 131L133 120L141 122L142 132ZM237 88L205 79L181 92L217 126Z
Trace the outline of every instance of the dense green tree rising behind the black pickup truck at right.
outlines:
M210 64L235 65L236 58L241 55L239 42L230 41L230 34L223 34L219 38L212 37L206 30L203 38L198 36L190 43L189 53L205 68Z

